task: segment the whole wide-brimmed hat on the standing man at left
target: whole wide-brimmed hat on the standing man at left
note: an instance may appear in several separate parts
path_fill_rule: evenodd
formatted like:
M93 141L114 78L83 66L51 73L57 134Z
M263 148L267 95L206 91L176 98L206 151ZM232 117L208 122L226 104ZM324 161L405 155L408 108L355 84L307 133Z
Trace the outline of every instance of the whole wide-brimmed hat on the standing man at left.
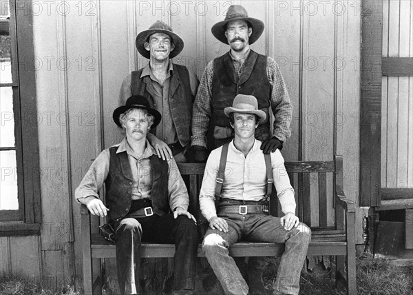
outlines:
M148 37L151 36L151 34L155 33L168 34L169 37L171 37L171 42L173 43L175 48L171 50L169 59L173 59L173 57L176 57L178 54L180 54L182 49L184 49L184 41L181 39L181 37L172 32L172 28L163 21L156 21L156 23L153 23L153 25L150 26L148 30L142 31L138 34L138 36L136 36L136 48L138 48L138 52L142 54L142 57L146 57L147 59L151 57L149 51L145 49L144 44L147 41Z

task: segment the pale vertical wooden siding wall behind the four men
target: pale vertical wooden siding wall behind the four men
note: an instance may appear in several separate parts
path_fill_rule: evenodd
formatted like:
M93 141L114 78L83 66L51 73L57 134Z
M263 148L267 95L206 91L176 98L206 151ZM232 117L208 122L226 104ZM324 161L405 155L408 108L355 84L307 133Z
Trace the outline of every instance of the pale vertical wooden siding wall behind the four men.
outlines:
M213 37L211 26L224 19L231 2L36 3L43 9L34 15L33 26L36 64L42 62L36 68L36 95L44 173L43 225L36 241L38 252L32 254L40 261L39 272L34 273L56 286L82 276L74 190L100 150L121 138L112 121L120 84L147 63L136 51L136 34L158 19L171 24L185 42L176 61L201 78L207 63L229 50ZM360 1L232 3L242 4L251 17L264 21L264 34L252 48L279 63L288 87L293 122L292 136L282 151L286 161L332 161L335 154L342 154L346 196L359 203ZM311 185L319 179L312 176L306 181ZM332 194L332 178L327 176L326 181L326 194ZM311 225L318 225L318 208L324 206L315 201L318 194L311 191ZM332 209L333 204L326 206ZM330 212L322 221L328 225L334 218L334 210ZM361 219L366 214L363 209L357 212L357 243L363 243ZM3 247L7 239L1 238L1 265L11 253ZM34 238L21 239L29 243ZM21 263L17 258L7 261L12 269Z

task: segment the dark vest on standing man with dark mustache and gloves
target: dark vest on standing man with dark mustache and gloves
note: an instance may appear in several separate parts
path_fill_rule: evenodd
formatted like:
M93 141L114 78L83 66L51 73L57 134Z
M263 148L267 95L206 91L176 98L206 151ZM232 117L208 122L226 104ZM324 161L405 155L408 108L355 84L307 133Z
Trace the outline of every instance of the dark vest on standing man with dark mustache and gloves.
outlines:
M224 114L224 108L232 105L237 94L247 94L255 96L258 101L258 108L267 114L267 120L255 130L255 137L257 137L257 132L260 132L260 135L265 133L267 138L271 137L268 120L271 84L266 73L266 61L267 58L264 55L251 50L246 61L244 61L244 71L238 79L229 52L214 59L211 130L215 125L231 128L229 119ZM264 138L260 136L257 139L263 140Z

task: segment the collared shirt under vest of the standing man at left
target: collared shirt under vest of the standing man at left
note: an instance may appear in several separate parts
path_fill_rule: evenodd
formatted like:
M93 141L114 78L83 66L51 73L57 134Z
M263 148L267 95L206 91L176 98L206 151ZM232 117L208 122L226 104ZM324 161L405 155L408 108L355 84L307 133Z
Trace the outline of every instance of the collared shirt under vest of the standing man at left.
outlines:
M198 78L196 75L188 69L189 72L189 86L191 88L191 93L193 96L196 94L198 88ZM169 60L167 77L163 84L160 84L158 79L152 72L150 63L145 65L142 69L142 74L140 78L142 79L145 76L149 76L151 79L151 84L154 90L153 96L153 107L162 114L160 123L156 126L155 135L158 139L165 141L167 144L177 143L178 134L176 133L176 127L173 124L171 108L169 107L169 85L171 83L171 77L173 76L173 63ZM132 95L131 84L132 84L132 75L129 74L123 80L122 86L120 88L120 105L125 105L126 100ZM189 126L188 126L189 128Z

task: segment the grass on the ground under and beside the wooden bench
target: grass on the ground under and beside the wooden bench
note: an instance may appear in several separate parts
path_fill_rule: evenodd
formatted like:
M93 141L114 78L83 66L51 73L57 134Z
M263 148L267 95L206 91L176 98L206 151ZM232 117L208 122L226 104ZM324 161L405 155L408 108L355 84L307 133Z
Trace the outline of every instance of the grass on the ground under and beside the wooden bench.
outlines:
M264 272L264 285L271 294L279 258L268 258L269 265ZM335 288L334 274L330 269L321 265L313 271L302 272L300 295L341 295L343 290ZM216 289L215 289L216 290ZM397 266L385 258L363 256L357 258L357 291L364 295L412 295L413 294L413 265ZM50 290L42 287L41 283L33 282L22 276L1 276L1 295L81 295L74 287L62 287ZM209 293L213 294L213 293Z

